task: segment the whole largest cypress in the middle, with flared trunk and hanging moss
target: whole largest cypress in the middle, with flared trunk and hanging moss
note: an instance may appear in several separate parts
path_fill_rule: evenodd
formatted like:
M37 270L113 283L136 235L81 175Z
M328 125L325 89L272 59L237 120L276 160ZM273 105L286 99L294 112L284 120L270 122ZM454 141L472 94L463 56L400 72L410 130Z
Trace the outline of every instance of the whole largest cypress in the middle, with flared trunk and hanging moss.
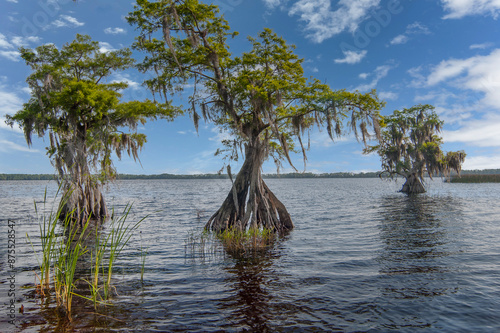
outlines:
M302 152L303 136L314 126L327 129L332 139L346 128L363 142L378 134L379 110L384 105L374 91L361 94L332 90L304 76L302 59L270 29L249 38L250 51L234 56L228 39L236 37L214 5L198 0L138 0L128 17L139 36L134 48L145 52L139 68L154 77L145 84L154 93L190 89L189 112L195 126L201 118L232 134L226 153L244 163L221 209L207 228L266 227L291 229L284 205L261 177L262 163L278 166L290 152ZM201 114L201 115L200 115ZM230 165L228 165L230 173Z

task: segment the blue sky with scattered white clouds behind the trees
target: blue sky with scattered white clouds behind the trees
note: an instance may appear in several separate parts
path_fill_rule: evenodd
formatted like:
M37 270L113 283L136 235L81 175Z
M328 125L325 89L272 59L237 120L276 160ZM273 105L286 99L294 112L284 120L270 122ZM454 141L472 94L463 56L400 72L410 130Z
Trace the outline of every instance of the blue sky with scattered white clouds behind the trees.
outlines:
M29 3L29 5L27 5ZM53 173L47 141L28 148L22 132L4 123L29 98L29 68L18 48L58 47L88 34L102 51L128 47L135 37L125 16L134 1L0 0L0 173ZM238 54L246 36L269 27L297 46L307 76L334 89L377 89L387 101L382 114L429 103L445 121L444 150L463 149L464 169L500 168L500 2L498 0L217 0L233 30ZM141 54L135 53L137 58ZM127 81L124 99L144 99L144 76L131 70L111 80ZM182 98L178 104L186 103ZM215 173L214 153L225 137L211 124L196 133L188 116L140 127L148 143L141 163L116 161L120 173ZM378 156L364 156L351 136L332 142L311 133L307 172L377 171ZM303 171L302 157L294 159ZM292 171L284 164L282 171ZM238 165L233 165L233 170ZM275 172L273 163L264 172Z

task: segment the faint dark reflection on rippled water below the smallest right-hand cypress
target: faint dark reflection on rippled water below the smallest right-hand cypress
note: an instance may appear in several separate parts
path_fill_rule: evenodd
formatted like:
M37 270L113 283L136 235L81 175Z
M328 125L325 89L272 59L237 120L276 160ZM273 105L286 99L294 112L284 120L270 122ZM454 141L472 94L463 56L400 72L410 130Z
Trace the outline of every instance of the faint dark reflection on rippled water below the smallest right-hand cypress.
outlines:
M449 218L457 204L449 197L385 197L381 204L380 238L384 244L377 260L380 274L387 279L384 296L399 299L446 294L445 274L450 243Z

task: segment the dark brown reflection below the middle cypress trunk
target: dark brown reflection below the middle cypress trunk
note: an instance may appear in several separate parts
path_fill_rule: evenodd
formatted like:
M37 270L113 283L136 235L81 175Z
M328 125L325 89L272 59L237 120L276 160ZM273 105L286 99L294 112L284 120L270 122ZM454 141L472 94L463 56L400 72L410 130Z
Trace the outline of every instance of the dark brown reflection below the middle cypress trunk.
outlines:
M270 332L269 321L273 319L270 302L272 295L268 288L277 280L273 269L279 257L274 250L268 249L246 255L231 255L234 266L226 267L229 273L226 288L229 296L219 303L223 313L228 313L228 328Z

